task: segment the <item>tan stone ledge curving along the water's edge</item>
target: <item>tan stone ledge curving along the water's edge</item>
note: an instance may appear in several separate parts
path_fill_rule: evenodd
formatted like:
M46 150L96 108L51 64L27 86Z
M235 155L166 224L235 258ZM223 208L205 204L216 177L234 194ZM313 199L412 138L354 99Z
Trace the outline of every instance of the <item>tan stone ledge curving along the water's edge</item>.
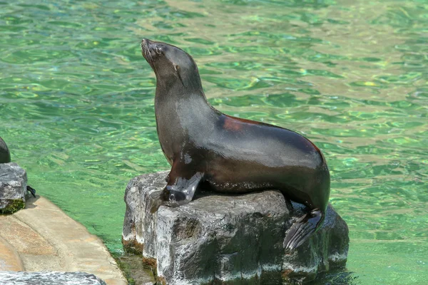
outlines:
M81 271L108 285L127 284L101 239L39 196L0 215L0 271Z

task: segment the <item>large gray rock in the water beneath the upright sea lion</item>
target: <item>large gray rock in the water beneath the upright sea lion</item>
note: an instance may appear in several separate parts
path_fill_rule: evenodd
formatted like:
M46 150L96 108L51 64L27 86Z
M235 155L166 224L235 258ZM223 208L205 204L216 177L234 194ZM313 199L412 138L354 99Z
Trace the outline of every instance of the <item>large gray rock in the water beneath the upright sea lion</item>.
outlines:
M158 281L181 284L283 284L310 281L345 266L349 244L343 219L329 205L322 228L294 252L287 229L303 214L278 191L245 195L205 192L190 204L161 206L153 199L168 172L135 177L126 187L123 245L143 252Z

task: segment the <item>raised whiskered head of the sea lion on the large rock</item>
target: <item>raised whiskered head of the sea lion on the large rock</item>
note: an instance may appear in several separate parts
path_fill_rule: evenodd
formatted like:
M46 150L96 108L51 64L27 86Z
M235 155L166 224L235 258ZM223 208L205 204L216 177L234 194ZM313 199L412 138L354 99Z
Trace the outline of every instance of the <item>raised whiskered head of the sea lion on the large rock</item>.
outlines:
M202 89L198 66L182 49L161 41L143 38L141 53L156 73L158 82L163 85L180 83L179 85L185 88Z

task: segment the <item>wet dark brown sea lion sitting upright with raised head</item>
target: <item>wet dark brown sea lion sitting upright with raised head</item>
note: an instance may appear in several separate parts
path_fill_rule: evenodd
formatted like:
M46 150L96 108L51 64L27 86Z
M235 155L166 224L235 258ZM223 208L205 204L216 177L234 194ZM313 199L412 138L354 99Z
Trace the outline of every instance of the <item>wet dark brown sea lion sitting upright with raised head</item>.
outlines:
M180 48L144 38L141 49L156 74L158 137L172 166L160 204L187 204L201 182L226 193L277 189L307 206L287 232L285 248L305 242L324 221L330 196L330 172L318 147L292 130L215 110L195 61Z

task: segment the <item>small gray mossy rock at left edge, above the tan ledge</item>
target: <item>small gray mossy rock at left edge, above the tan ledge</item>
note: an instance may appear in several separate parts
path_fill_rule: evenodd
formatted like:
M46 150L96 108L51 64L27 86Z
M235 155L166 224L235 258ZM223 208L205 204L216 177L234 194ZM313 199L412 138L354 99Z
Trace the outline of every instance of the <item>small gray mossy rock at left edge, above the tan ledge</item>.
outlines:
M26 172L15 162L0 163L0 214L25 207Z

